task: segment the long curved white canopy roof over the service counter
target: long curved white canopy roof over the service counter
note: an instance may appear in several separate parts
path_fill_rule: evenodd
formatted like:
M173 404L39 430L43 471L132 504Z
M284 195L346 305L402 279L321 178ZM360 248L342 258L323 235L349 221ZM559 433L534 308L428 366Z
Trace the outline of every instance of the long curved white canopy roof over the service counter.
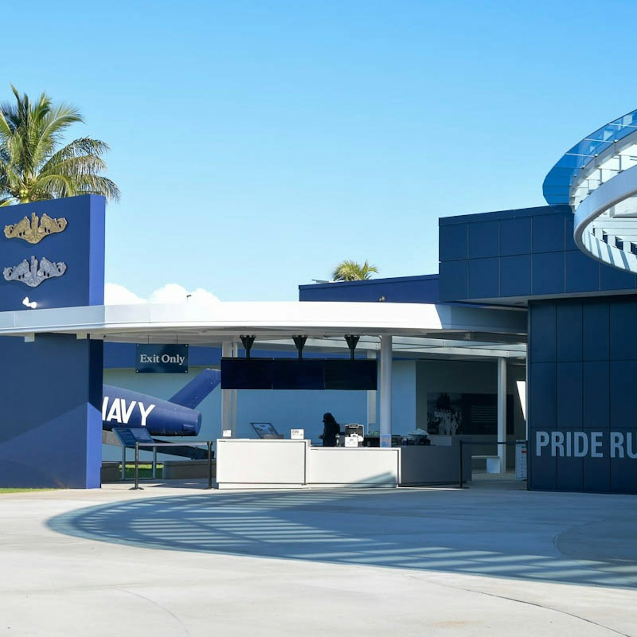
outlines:
M345 334L358 334L360 348L377 347L392 334L396 345L489 349L490 355L526 354L524 311L420 303L246 302L97 305L0 312L0 336L43 333L129 343L220 345L254 334L271 347L308 336L307 347L346 347ZM320 343L318 342L320 339ZM328 339L328 341L324 341ZM441 342L441 339L444 342ZM434 343L429 341L435 340ZM338 341L338 344L336 343ZM396 348L396 347L395 347ZM463 352L470 354L470 352Z

